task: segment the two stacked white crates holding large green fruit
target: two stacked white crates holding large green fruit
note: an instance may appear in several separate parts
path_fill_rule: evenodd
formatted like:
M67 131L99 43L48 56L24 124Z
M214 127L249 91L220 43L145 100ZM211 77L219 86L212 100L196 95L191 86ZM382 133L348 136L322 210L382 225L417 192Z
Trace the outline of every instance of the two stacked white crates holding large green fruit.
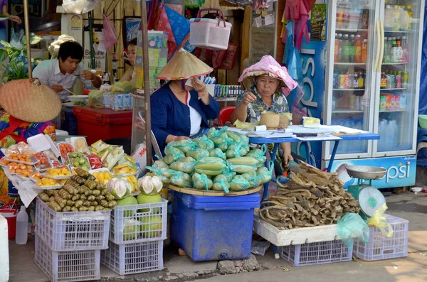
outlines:
M116 206L111 213L110 242L101 264L121 276L163 269L167 200Z

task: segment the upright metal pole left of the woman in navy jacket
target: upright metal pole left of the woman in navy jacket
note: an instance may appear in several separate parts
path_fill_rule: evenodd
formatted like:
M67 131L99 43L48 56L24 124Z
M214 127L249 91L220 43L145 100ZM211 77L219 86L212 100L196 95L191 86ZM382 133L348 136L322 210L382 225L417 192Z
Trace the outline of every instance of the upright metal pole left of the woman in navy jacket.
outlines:
M148 31L147 31L147 2L141 1L141 29L142 29L142 63L144 64L144 100L145 100L145 145L147 146L147 166L152 164L151 140L151 103L149 90L148 65Z

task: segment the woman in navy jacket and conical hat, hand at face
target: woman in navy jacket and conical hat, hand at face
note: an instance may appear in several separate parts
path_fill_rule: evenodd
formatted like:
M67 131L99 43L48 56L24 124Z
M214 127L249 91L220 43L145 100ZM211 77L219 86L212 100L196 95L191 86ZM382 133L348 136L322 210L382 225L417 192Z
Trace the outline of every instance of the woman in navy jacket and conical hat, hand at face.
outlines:
M152 131L160 150L167 143L196 138L209 127L208 119L216 119L219 104L196 77L212 69L194 55L179 50L167 63L157 79L169 80L151 97ZM191 79L192 87L185 85Z

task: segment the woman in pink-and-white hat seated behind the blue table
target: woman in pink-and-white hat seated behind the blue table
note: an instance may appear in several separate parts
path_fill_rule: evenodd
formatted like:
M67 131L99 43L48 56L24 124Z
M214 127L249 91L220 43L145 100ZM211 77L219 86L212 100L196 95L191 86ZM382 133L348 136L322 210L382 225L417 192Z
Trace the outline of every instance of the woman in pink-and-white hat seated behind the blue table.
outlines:
M253 85L239 95L236 109L231 115L231 122L234 123L237 119L256 122L260 120L264 111L278 114L289 112L288 101L282 88L288 87L285 91L289 93L297 87L297 82L292 80L286 67L280 66L271 56L263 56L258 63L244 70L238 81L241 82L246 78L252 79ZM280 143L280 148L283 160L276 161L279 161L280 166L282 163L288 165L289 161L293 161L290 143ZM280 154L276 156L279 157Z

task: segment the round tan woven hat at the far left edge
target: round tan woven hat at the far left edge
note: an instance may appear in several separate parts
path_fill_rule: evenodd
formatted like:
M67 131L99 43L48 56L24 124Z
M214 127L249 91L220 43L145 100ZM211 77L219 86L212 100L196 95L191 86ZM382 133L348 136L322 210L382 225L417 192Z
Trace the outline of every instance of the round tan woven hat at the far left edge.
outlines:
M0 104L11 116L28 122L51 121L62 109L58 94L37 79L7 82L0 87Z

